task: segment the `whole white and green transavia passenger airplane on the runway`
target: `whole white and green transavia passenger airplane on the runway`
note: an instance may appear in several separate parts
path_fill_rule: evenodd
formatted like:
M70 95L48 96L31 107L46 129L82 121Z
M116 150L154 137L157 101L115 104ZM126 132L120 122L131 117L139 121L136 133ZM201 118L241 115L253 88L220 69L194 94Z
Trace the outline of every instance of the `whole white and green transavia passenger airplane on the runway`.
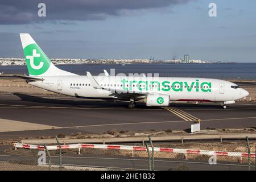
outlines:
M137 101L147 106L169 106L170 102L220 102L223 109L249 95L237 84L212 78L152 76L86 76L55 67L30 34L20 34L29 76L19 76L28 84L66 96Z

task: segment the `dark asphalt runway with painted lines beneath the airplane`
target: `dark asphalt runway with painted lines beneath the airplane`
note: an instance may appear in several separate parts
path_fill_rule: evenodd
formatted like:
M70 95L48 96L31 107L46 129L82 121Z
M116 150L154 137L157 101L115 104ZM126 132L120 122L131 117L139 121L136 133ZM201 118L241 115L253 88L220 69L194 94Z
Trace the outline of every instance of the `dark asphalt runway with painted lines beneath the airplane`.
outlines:
M126 106L127 102L121 101L1 94L0 122L9 121L10 127L0 130L0 139L102 133L112 129L186 130L197 118L201 119L201 129L256 127L255 102L233 104L225 110L214 104L147 107L138 103L135 109ZM19 129L12 129L12 122L19 122ZM32 129L28 127L31 123Z

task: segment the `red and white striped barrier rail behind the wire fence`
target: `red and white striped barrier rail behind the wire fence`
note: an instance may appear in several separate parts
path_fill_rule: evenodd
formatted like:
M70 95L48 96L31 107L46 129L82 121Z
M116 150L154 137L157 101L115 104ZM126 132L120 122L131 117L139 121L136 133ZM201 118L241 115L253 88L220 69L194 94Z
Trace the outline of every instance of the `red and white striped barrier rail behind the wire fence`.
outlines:
M14 143L15 148L27 148L44 150L44 146L36 146L32 144ZM74 148L98 148L98 149L114 149L114 150L131 150L131 151L146 151L146 147L139 146L117 146L107 144L65 144L61 145L61 149L74 149ZM47 146L48 150L59 150L59 146ZM149 148L151 151L151 148ZM217 156L233 156L233 157L248 157L245 152L221 152L221 151L208 151L208 150L192 150L192 149L180 149L180 148L163 148L154 147L155 152L169 152L174 154L195 154L195 155L217 155ZM251 154L251 158L255 158L255 154Z

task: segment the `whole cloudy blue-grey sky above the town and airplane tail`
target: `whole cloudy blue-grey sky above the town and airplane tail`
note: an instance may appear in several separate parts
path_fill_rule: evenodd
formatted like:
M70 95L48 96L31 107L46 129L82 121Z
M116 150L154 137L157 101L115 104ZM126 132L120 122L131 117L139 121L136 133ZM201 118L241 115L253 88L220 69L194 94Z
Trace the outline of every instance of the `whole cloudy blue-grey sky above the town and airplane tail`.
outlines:
M256 63L255 8L256 0L1 0L0 57L23 57L22 32L50 58Z

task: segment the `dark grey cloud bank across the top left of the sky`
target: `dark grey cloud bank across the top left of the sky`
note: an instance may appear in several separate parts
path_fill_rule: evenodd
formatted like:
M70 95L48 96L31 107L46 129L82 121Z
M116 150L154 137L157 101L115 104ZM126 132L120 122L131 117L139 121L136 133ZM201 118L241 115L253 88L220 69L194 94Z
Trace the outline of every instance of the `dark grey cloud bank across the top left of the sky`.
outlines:
M1 0L0 24L104 20L108 16L122 15L122 10L155 9L188 1L193 0ZM40 2L46 3L46 17L38 17Z

